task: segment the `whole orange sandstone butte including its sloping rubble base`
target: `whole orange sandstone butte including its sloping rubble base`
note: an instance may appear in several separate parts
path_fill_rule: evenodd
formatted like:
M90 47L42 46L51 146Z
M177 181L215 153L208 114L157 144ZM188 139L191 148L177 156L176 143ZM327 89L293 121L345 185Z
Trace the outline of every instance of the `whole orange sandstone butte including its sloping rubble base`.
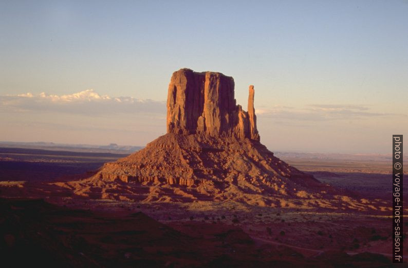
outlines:
M60 186L88 198L234 200L272 207L296 207L301 199L312 200L304 201L303 207L313 207L316 200L339 194L262 145L254 94L249 86L246 112L236 104L232 77L180 69L170 80L165 135L132 155L105 163L88 179ZM320 205L334 208L332 201Z

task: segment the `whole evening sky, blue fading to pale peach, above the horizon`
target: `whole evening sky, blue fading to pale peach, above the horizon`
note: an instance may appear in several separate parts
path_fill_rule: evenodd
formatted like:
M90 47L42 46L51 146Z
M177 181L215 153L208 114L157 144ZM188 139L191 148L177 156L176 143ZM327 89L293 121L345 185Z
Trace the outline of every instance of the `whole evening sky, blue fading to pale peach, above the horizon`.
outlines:
M406 14L406 1L2 1L0 140L145 145L188 67L233 76L244 108L255 85L271 150L386 153L408 130Z

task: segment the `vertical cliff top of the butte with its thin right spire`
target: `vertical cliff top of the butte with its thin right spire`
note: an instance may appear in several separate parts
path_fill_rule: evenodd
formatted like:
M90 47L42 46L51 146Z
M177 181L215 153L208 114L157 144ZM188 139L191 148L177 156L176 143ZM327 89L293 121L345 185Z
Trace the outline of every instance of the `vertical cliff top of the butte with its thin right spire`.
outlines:
M234 79L217 72L180 69L173 73L167 98L167 132L235 136L259 141L249 87L248 112L236 105Z

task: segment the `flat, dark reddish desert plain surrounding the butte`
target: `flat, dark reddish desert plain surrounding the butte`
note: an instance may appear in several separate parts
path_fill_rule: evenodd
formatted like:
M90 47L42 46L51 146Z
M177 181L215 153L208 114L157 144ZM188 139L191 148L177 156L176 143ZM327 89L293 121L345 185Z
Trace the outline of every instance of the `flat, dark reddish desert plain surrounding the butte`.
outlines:
M54 256L49 263L67 266L392 266L390 210L128 202L67 197L52 189L40 196L44 202L22 194L30 185L85 178L123 156L0 148L3 253L11 258L40 246L43 255ZM386 157L276 156L362 199L391 200ZM404 226L408 230L407 220ZM406 261L408 247L403 254Z

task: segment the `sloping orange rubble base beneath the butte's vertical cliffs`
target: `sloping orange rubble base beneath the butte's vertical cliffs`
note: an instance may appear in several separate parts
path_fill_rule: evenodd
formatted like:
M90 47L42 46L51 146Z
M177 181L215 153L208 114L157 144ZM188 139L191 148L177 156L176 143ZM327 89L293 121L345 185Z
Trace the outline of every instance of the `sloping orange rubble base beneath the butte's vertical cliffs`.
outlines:
M143 150L106 163L94 181L122 181L189 200L240 199L243 194L305 195L323 186L251 139L165 134ZM319 191L318 191L319 190ZM167 193L167 194L166 194ZM186 198L183 198L186 199Z

